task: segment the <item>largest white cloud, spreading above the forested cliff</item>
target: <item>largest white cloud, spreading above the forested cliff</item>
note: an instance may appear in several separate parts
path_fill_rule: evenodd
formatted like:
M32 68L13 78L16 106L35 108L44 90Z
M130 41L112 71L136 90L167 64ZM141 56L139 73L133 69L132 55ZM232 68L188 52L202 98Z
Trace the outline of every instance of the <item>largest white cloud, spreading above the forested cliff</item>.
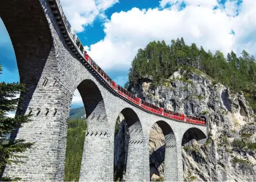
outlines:
M112 14L104 23L106 37L90 46L90 56L105 71L127 70L137 49L153 40L165 40L169 44L180 37L187 44L194 42L213 53L221 50L227 54L233 50L240 54L246 49L256 55L256 1L244 0L240 15L235 17L227 16L221 8L213 10L216 1L207 1L208 4L205 0L186 1L189 3L181 11L133 8ZM199 2L204 5L197 6ZM235 35L230 34L231 30Z

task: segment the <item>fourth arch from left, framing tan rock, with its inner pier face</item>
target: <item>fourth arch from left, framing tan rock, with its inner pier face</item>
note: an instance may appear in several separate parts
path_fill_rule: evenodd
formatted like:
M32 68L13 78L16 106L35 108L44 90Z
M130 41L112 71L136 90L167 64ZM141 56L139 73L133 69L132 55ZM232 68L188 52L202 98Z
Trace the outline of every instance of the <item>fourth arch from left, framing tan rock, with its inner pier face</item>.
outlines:
M177 169L175 168L177 166L176 138L174 131L167 122L158 121L153 124L150 130L149 149L151 149L150 180L157 180L153 179L154 173L164 178L164 181L177 180ZM158 178L158 180L160 179Z

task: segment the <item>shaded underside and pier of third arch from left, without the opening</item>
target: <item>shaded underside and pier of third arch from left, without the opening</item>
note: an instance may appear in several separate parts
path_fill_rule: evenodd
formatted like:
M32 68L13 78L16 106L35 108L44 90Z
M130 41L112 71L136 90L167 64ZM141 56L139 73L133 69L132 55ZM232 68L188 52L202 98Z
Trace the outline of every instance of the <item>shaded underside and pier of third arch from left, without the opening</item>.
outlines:
M144 180L145 140L141 121L131 108L120 112L125 117L128 127L128 154L126 163L126 181Z

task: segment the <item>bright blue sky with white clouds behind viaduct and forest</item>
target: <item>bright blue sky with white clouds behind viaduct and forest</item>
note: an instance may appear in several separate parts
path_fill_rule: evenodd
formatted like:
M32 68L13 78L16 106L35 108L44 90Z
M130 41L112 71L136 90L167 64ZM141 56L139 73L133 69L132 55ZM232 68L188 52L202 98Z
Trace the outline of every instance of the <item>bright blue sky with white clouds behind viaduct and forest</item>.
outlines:
M256 55L255 0L60 0L89 55L119 85L137 49L153 40L185 38L224 54L243 49ZM15 54L0 20L0 82L18 82ZM72 108L82 105L75 91Z

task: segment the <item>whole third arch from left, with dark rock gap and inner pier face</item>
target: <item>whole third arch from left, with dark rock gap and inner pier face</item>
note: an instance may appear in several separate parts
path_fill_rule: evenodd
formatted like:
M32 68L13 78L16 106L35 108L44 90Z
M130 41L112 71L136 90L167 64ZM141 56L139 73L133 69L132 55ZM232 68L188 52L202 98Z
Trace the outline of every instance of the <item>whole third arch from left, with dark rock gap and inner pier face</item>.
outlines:
M144 180L144 143L139 117L131 108L124 108L115 124L114 181Z

